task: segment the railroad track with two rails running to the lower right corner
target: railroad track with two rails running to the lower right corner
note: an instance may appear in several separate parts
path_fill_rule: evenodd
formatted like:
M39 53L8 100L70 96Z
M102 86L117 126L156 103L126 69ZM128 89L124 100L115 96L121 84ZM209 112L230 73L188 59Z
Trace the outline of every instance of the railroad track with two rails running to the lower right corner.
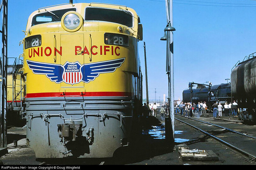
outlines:
M178 115L178 114L176 114L176 115ZM194 129L199 130L203 134L210 136L211 138L223 143L224 145L229 146L230 148L249 157L250 159L253 159L253 161L256 161L256 149L254 149L255 145L256 145L256 140L255 140L256 136L244 134L242 132L238 132L236 130L226 128L223 126L219 126L217 124L205 122L202 120L198 120L198 119L194 119L194 118L187 118L182 115L178 115L178 116L180 116L180 118L182 118L182 119L175 118L177 121L180 121L184 124L187 124L187 125L193 127ZM209 126L205 126L206 124L208 124ZM219 129L214 129L213 127L221 128L221 131ZM214 132L215 132L215 134L214 134ZM216 132L218 132L218 133L216 133ZM228 135L228 133L229 133L229 135ZM228 136L225 136L225 135L222 136L222 134L226 134ZM240 137L237 138L237 135L239 135ZM245 139L242 139L242 137L244 137ZM237 141L237 139L238 139L238 141ZM250 142L250 145L252 147L250 147L247 142Z

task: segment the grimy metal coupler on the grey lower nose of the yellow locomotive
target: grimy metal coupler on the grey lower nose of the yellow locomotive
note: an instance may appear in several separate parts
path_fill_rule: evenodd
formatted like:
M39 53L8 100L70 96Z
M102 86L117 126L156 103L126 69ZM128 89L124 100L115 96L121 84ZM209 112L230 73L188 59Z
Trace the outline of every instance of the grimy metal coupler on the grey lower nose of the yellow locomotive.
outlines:
M65 141L75 141L76 137L82 134L82 120L70 121L69 123L57 124L60 138Z

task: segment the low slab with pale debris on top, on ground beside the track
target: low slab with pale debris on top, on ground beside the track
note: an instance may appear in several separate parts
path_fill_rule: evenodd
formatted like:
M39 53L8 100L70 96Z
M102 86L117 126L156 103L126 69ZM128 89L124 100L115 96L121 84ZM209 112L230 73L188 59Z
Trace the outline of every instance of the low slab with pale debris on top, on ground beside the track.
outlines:
M182 160L193 160L193 161L218 161L218 155L212 150L189 150L181 149L179 154Z

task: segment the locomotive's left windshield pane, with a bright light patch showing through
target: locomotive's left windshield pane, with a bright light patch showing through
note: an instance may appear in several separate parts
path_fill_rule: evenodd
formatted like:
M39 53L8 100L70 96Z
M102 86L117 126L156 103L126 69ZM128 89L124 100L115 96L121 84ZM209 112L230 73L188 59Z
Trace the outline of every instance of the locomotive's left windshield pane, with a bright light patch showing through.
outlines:
M36 14L32 19L33 25L44 24L47 22L61 21L61 17L68 11L76 11L76 8L61 9L55 11L45 11L43 13Z

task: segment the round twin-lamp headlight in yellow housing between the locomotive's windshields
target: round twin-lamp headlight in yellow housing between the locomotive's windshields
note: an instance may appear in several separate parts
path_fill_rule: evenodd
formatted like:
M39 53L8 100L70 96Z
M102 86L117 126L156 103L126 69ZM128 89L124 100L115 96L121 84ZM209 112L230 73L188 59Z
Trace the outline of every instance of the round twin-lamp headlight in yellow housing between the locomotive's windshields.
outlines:
M61 25L64 30L69 32L77 31L81 28L83 18L81 15L74 11L69 11L61 18Z

